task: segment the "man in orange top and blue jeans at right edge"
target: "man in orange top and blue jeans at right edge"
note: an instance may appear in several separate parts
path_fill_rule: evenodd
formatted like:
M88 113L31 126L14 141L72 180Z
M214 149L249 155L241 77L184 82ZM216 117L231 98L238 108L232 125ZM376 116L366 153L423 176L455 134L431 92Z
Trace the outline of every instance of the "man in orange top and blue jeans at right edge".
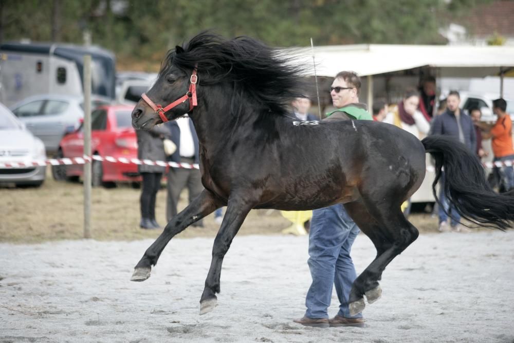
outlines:
M492 111L498 116L496 123L490 128L489 132L484 134L484 139L492 139L492 152L494 154L493 161L510 161L514 163L514 148L512 147L512 120L506 112L507 102L500 98L493 100ZM501 191L509 191L514 189L514 170L512 164L498 168L500 176Z

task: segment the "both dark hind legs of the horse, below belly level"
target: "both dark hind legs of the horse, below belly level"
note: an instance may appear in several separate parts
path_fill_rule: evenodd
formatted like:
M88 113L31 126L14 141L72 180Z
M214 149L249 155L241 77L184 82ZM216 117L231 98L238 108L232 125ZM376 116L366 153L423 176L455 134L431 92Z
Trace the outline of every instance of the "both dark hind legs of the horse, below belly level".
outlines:
M381 288L378 281L382 278L383 270L414 242L419 234L405 219L399 206L362 205L352 203L346 204L345 207L362 232L372 240L377 249L377 256L354 281L349 298L351 315L364 309L364 295L368 303L380 298Z

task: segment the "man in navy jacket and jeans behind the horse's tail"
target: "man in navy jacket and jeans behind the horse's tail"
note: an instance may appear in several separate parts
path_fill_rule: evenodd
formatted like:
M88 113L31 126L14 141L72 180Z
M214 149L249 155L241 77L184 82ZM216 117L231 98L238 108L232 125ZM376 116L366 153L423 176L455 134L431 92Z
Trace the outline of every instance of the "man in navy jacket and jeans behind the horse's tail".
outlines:
M457 91L451 91L446 98L447 109L441 115L434 117L430 128L431 135L446 135L464 143L470 152L475 153L476 135L471 118L463 113L458 107L461 97ZM445 172L439 181L440 192L439 200L443 206L439 206L439 231L467 232L466 227L460 224L461 215L455 207L451 206L446 200L444 192ZM451 217L450 227L448 227L448 215Z

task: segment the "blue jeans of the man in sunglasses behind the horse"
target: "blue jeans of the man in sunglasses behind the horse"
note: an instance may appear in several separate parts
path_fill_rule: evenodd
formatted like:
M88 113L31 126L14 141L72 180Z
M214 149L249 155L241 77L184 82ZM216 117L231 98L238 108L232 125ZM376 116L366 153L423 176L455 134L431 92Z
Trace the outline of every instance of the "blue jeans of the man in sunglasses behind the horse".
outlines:
M359 227L342 204L313 211L308 260L313 283L305 299L307 317L328 318L327 309L332 298L333 285L336 286L340 303L338 315L345 318L362 317L360 313L350 316L348 309L348 297L357 278L350 250L359 232Z

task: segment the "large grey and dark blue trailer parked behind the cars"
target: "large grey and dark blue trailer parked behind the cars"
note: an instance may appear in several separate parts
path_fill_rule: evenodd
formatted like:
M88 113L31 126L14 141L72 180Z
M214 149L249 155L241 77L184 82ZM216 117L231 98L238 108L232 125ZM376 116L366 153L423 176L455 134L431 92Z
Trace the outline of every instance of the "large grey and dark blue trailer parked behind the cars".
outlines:
M0 102L10 106L32 95L83 95L84 55L92 59L91 93L114 99L112 52L96 46L5 43L0 46Z

